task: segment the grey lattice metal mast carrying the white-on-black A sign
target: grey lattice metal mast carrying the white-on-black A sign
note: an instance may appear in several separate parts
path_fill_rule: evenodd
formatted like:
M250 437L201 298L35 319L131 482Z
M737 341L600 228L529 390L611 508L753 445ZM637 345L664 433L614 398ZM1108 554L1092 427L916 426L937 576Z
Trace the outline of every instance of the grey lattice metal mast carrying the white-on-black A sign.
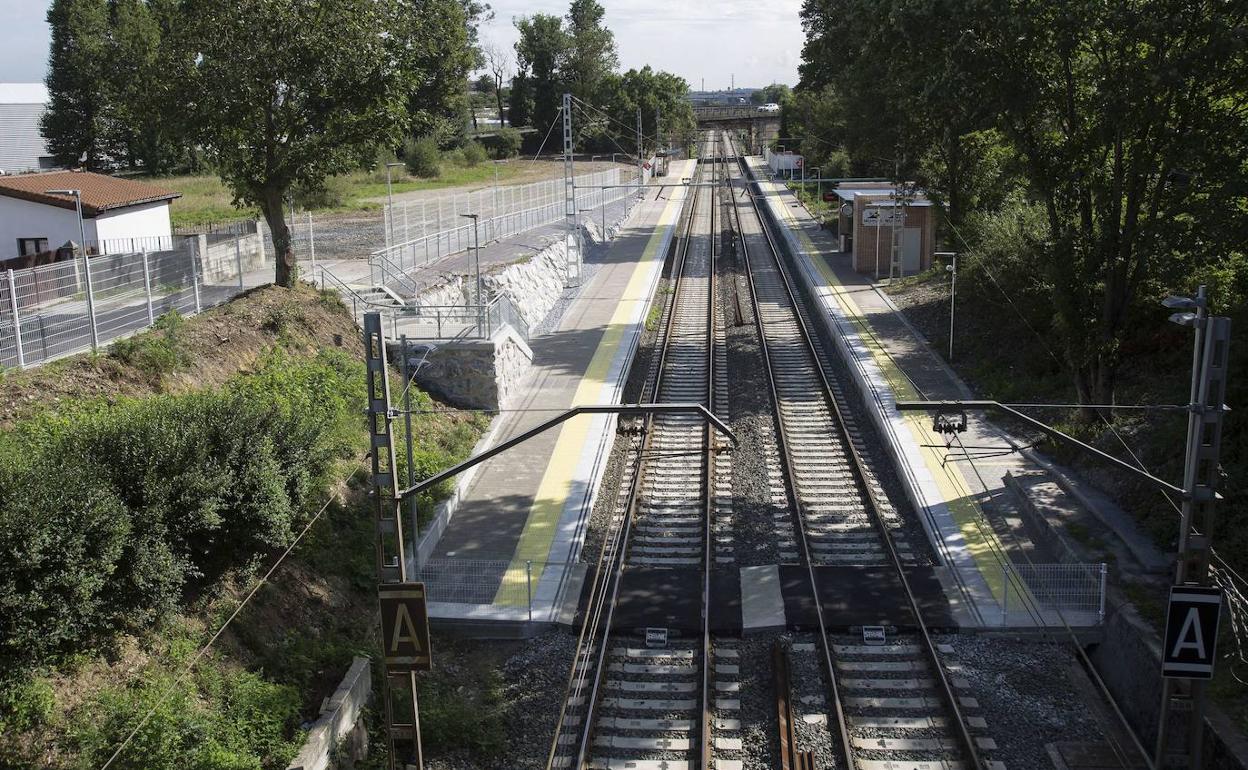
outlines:
M1179 312L1171 321L1193 328L1192 391L1187 417L1187 454L1183 463L1182 529L1174 585L1209 585L1209 557L1213 552L1213 525L1221 468L1222 416L1226 413L1227 348L1231 343L1231 318L1209 316L1206 287L1194 298L1167 297L1163 305ZM1178 691L1174 679L1162 683L1161 715L1157 723L1158 770L1182 761L1182 749L1172 750L1169 723L1186 718L1187 768L1203 766L1204 711L1208 683L1188 680L1188 693ZM1179 743L1182 746L1182 743Z

